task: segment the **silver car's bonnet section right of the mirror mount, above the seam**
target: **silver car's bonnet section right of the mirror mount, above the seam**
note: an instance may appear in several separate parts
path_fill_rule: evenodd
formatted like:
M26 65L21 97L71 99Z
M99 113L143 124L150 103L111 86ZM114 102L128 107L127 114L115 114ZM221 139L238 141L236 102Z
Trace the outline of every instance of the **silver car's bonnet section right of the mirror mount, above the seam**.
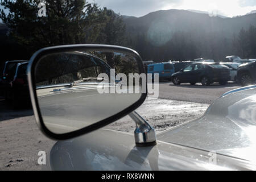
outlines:
M255 163L256 89L233 92L219 98L203 117L164 131L158 139Z

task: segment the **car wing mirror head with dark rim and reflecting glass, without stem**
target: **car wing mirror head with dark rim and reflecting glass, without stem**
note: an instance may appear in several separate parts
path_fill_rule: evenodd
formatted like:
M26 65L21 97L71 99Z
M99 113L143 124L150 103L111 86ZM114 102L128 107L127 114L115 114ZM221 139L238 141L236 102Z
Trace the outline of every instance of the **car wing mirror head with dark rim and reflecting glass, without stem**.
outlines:
M36 122L57 140L100 129L143 104L144 73L139 54L125 47L80 44L40 49L27 69Z

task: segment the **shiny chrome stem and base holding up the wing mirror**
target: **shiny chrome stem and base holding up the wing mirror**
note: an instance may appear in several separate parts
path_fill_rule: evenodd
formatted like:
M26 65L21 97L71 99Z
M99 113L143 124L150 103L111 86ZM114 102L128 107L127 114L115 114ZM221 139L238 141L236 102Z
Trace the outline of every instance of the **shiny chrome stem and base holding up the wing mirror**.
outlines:
M135 143L138 147L148 147L156 145L155 129L136 111L129 114L136 123L134 131Z

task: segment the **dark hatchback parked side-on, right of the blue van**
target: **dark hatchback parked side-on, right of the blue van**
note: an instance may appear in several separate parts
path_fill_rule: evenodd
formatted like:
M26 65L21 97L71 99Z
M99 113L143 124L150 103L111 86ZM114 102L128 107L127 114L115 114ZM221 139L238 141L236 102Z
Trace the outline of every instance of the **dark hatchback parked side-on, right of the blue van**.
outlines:
M210 85L219 82L225 85L230 80L229 68L218 63L193 63L174 73L171 77L175 85L191 83L195 85L201 82L202 85Z

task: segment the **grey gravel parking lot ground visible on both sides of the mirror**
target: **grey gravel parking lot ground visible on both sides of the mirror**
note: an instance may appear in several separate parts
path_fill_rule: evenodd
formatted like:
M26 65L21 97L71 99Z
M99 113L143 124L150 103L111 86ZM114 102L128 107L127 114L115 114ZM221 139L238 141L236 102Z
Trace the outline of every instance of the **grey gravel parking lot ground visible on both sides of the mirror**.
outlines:
M148 98L137 111L159 132L200 117L212 100L237 87L173 86L171 82L162 82L160 98ZM126 116L106 128L132 133L135 123ZM40 170L38 152L51 150L55 143L39 131L30 107L13 110L0 97L0 170Z

